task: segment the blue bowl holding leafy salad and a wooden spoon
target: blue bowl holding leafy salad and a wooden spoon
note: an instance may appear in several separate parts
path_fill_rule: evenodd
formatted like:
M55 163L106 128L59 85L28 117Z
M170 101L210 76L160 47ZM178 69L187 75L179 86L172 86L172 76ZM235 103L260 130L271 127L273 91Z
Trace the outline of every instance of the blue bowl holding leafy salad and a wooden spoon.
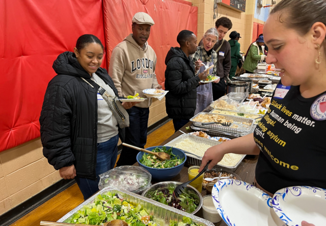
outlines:
M146 150L152 150L154 148L162 148L163 146L153 146L153 147L148 147L146 148ZM165 146L167 149L170 149L171 147L169 146ZM155 169L155 168L151 168L148 166L143 165L142 163L140 163L140 160L142 159L143 155L146 154L144 152L140 152L137 155L137 162L140 166L144 167L145 169L147 169L151 174L152 174L152 180L155 182L161 182L161 181L169 181L172 178L174 178L176 175L179 174L179 172L181 171L182 167L184 166L185 161L187 160L187 156L184 154L184 152L182 152L182 150L173 147L172 148L172 153L176 156L179 156L180 159L184 158L184 161L180 164L177 165L175 167L172 168L167 168L167 169Z

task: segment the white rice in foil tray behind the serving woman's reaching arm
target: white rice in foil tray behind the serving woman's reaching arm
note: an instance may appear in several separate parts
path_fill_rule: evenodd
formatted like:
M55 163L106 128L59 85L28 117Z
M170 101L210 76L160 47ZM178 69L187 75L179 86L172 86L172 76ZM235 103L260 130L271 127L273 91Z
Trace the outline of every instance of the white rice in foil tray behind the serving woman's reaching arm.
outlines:
M197 143L189 139L184 139L183 141L177 143L174 147L203 157L206 150L211 146L212 145L209 144ZM223 159L219 162L219 165L228 166L228 167L235 166L240 161L241 158L242 155L237 155L233 153L226 154L224 155Z

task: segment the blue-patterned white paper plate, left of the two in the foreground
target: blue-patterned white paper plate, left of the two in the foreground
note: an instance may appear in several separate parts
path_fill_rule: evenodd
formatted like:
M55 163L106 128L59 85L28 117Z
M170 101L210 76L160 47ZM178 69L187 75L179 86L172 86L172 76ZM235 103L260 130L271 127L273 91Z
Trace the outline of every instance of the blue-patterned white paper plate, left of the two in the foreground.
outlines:
M229 226L285 226L273 211L272 198L251 184L224 179L214 185L212 196Z

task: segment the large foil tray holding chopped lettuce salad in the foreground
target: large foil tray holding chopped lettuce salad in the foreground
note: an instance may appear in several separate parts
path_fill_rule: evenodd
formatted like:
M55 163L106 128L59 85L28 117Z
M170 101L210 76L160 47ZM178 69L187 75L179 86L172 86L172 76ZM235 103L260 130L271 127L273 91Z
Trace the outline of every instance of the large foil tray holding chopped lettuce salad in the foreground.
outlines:
M176 220L180 222L182 221L183 216L191 218L194 222L200 224L201 226L214 226L212 222L205 220L203 218L188 214L186 212L177 210L173 207L169 207L164 204L157 203L154 200L145 198L141 195L134 194L126 190L118 189L118 188L110 188L110 187L106 187L98 191L96 194L94 194L89 199L87 199L84 203L80 204L75 209L67 213L57 222L63 222L64 220L72 216L74 213L76 213L78 210L82 209L84 205L92 203L97 195L106 193L108 191L110 191L111 193L118 193L119 197L127 198L127 200L129 200L130 204L132 205L140 204L146 210L147 213L149 213L154 217L154 222L158 226L165 226L165 225L169 226L170 220Z

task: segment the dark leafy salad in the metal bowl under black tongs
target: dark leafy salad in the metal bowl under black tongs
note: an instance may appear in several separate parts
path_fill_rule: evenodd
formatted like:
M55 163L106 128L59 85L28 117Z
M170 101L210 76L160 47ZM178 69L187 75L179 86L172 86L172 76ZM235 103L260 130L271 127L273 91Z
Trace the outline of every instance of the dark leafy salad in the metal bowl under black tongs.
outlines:
M148 192L146 197L187 213L194 212L199 205L198 199L193 197L196 194L188 194L183 191L179 197L176 198L173 195L174 189L174 187L169 187L169 189L162 189L160 191L155 190Z

